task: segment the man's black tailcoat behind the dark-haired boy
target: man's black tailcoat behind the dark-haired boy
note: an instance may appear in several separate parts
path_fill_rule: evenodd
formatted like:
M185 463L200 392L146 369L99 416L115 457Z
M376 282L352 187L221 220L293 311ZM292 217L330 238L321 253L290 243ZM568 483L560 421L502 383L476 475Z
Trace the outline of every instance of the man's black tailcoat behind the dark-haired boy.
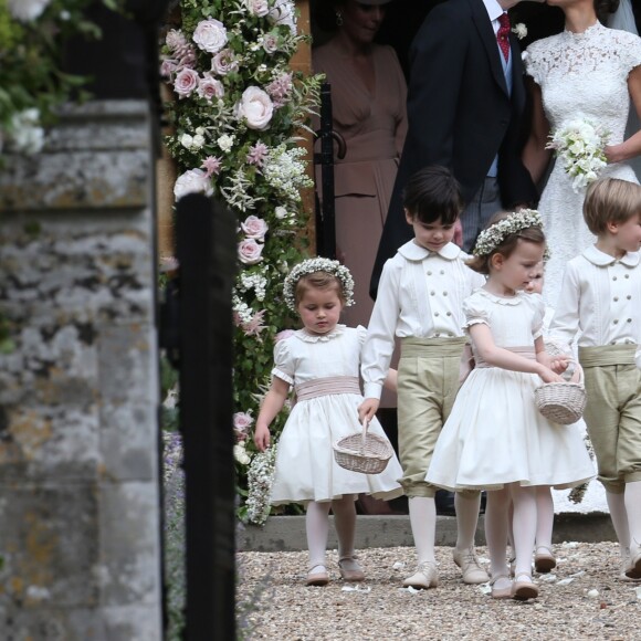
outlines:
M409 130L374 267L372 297L385 261L412 238L403 214L402 190L419 169L428 165L450 168L469 202L498 154L503 206L536 202L536 187L521 160L526 91L514 33L511 48L512 95L482 0L439 4L414 38L410 48Z

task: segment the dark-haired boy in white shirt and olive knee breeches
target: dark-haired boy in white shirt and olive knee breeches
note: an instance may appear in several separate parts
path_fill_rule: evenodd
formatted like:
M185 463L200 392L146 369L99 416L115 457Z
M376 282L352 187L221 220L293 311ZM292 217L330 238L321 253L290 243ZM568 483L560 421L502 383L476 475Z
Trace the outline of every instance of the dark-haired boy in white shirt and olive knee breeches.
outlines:
M462 303L484 277L465 265L467 254L453 242L462 210L459 182L444 167L427 167L410 178L403 195L408 224L414 239L403 244L383 266L378 296L362 348L365 401L360 418L374 417L389 369L395 336L400 339L398 368L398 440L417 547L417 571L404 586L438 585L434 559L437 487L425 471L456 392L466 338ZM474 553L479 492L456 493L458 539L454 561L463 581L490 580Z

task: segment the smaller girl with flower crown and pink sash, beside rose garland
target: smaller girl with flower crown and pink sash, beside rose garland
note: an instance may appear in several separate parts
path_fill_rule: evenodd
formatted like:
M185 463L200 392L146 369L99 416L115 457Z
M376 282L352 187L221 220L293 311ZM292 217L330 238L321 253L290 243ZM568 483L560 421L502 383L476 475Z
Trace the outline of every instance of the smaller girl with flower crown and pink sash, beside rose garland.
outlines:
M285 279L285 301L301 316L303 329L276 343L272 385L254 433L256 446L264 451L270 445L270 423L294 387L296 403L279 439L271 502L307 505L308 586L329 581L325 560L329 509L338 537L340 576L361 581L365 575L354 550L354 502L360 493L385 500L402 494L397 481L402 470L396 455L380 474L351 472L334 460L333 443L362 429L357 411L364 400L358 377L367 330L338 324L353 294L349 270L338 261L309 259ZM390 371L388 380L392 389L393 375ZM368 430L387 438L376 419Z

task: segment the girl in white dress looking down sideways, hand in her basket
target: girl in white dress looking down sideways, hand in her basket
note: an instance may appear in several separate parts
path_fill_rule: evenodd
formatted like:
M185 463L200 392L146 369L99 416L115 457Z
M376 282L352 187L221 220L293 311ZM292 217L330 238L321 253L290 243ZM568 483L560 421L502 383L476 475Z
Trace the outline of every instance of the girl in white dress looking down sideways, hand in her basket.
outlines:
M543 298L523 291L543 260L538 212L498 214L484 230L469 263L488 275L463 303L475 368L461 387L437 442L427 481L449 490L487 492L485 537L492 597L538 596L532 580L536 536L536 486L578 485L593 475L576 430L545 419L534 390L560 382L567 360L543 344ZM506 560L508 507L514 502L514 582Z

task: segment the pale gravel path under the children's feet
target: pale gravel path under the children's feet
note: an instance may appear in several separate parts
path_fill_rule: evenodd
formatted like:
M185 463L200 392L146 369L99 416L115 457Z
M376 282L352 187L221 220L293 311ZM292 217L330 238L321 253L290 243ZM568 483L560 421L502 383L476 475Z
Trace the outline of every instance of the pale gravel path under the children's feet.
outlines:
M304 585L306 553L239 553L238 603L250 609L249 639L641 639L641 584L618 580L616 544L565 543L555 554L556 571L536 577L539 598L517 602L462 584L451 548L437 548L440 586L416 592L401 589L412 548L361 550L368 580L358 590L339 579L335 551L323 588Z

